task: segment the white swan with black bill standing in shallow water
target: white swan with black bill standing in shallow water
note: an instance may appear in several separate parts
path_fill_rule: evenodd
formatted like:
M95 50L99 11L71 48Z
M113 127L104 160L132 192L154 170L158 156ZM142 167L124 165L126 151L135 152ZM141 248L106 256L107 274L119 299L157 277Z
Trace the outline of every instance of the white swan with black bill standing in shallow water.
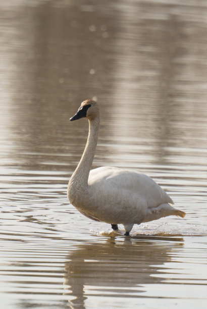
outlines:
M99 108L94 100L81 103L71 121L86 118L89 122L87 143L81 160L70 178L67 195L70 203L86 217L111 224L118 230L123 224L126 236L134 224L185 213L172 207L170 196L150 177L117 167L99 167L93 162L99 129Z

